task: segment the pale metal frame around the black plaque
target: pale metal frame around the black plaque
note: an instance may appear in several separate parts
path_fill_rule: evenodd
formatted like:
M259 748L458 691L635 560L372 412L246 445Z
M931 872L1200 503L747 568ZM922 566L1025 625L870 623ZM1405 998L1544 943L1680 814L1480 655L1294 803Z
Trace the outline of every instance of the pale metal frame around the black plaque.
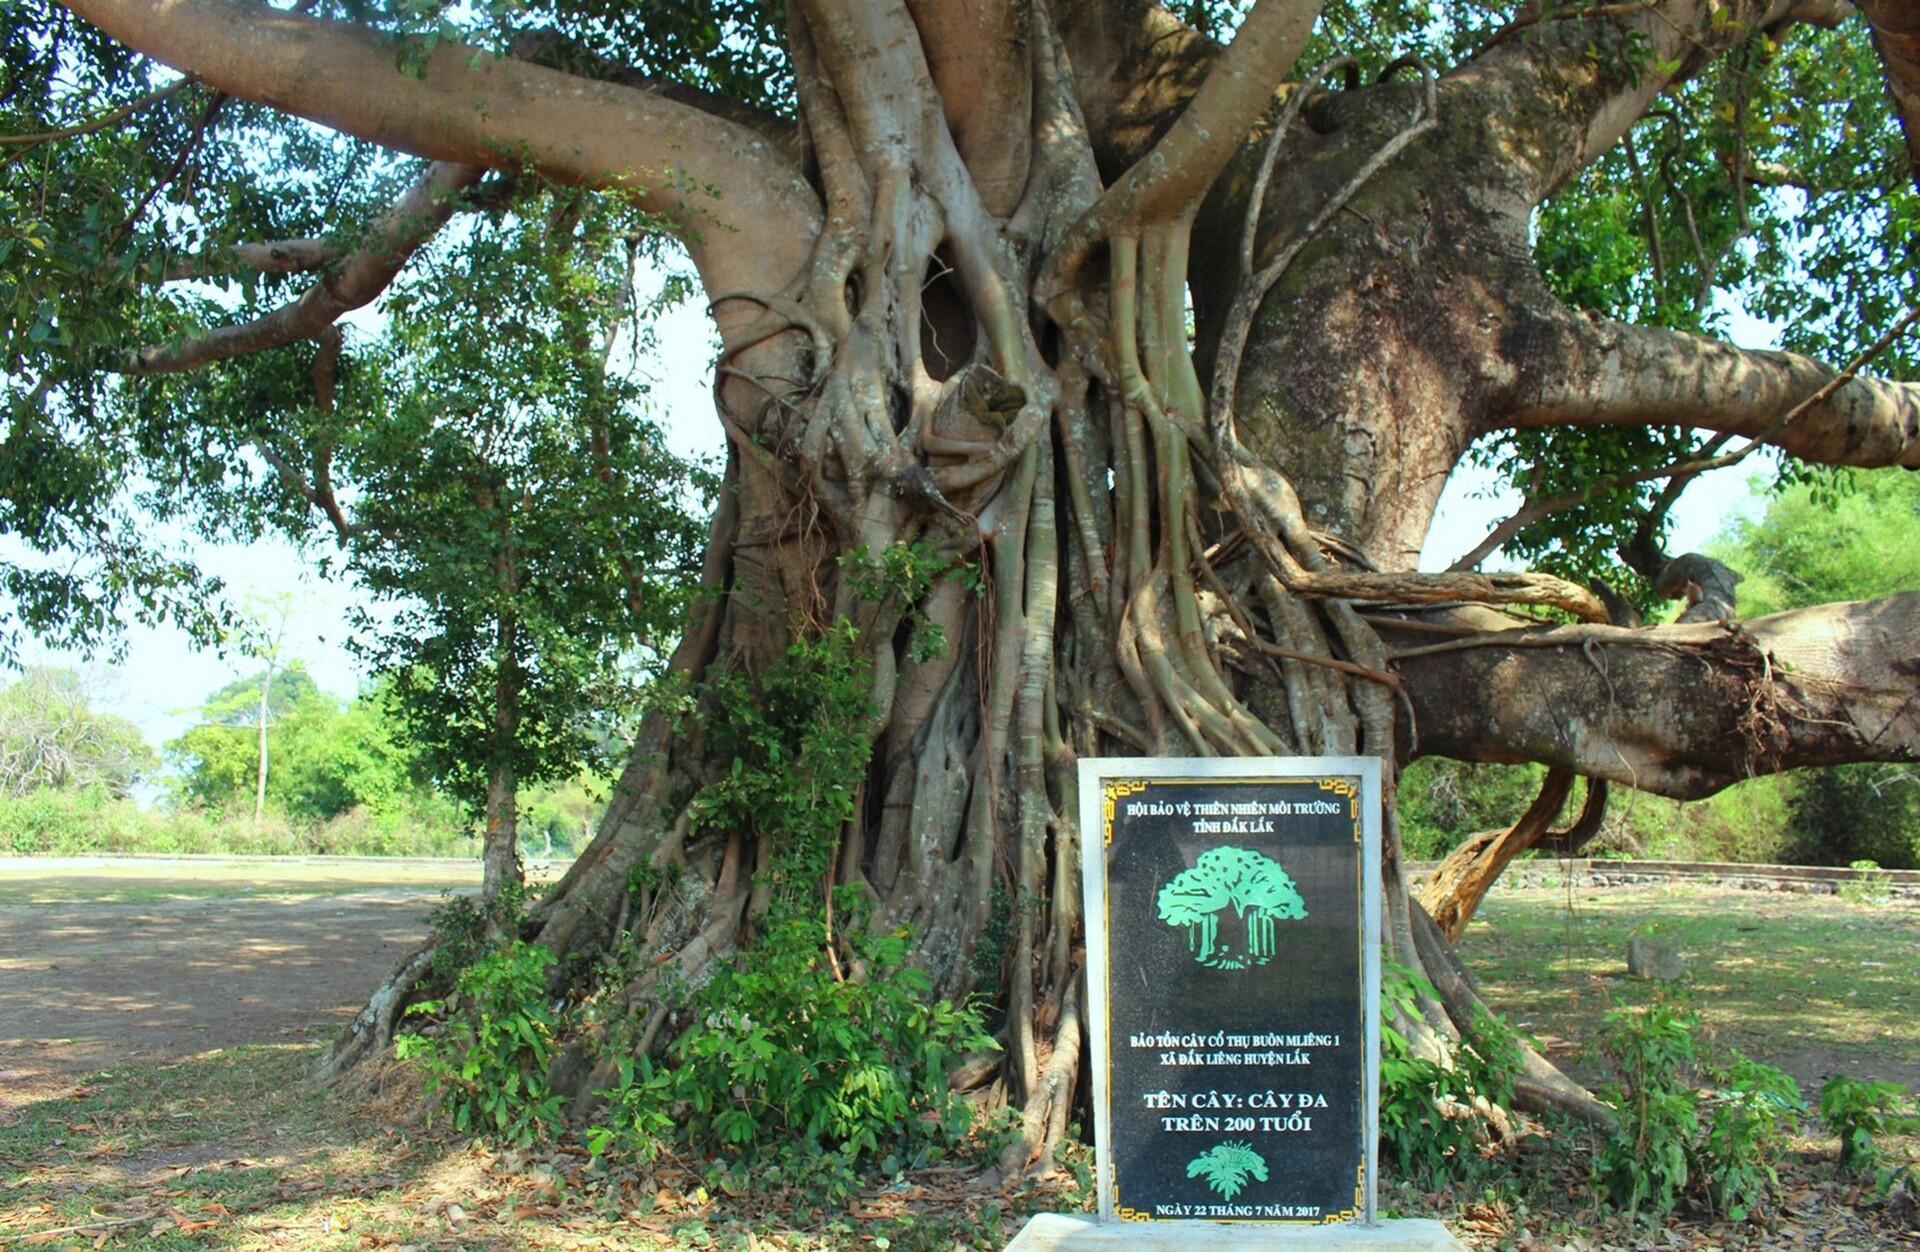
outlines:
M1087 1031L1092 1045L1094 1158L1100 1221L1116 1216L1114 1183L1114 1023L1108 845L1116 803L1108 783L1300 783L1352 780L1359 789L1359 997L1361 997L1361 1173L1357 1217L1377 1225L1380 1143L1380 762L1373 757L1098 757L1079 762L1081 870L1087 916ZM1233 1217L1250 1225L1290 1219ZM1329 1217L1331 1219L1331 1217ZM1175 1217L1173 1221L1179 1221ZM1325 1219L1323 1219L1325 1221Z

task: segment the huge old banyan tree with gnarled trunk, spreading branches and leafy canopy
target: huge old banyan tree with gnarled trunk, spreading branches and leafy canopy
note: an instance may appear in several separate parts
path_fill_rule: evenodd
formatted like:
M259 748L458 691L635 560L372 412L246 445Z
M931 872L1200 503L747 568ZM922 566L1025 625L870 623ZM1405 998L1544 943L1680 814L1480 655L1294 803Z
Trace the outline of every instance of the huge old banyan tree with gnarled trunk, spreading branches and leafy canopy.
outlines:
M1000 979L1008 1164L1044 1160L1081 1050L1075 757L1536 760L1697 797L1920 753L1916 595L1630 630L1549 574L1411 570L1473 447L1524 522L1594 536L1553 561L1638 540L1655 578L1703 461L1920 465L1874 58L1920 102L1880 0L1187 6L1212 31L1140 0L8 2L10 438L326 513L330 326L455 217L547 181L685 248L728 482L685 701L526 924L555 983L611 977L637 1023L572 1037L568 1091L705 1020L676 997L753 958L774 895L854 968L828 904L860 899L935 987ZM1807 355L1699 334L1724 290ZM292 478L248 470L288 438ZM837 734L737 699L803 661L866 691ZM795 747L818 805L728 801L778 795ZM1478 1004L1405 893L1392 785L1386 849L1390 943L1440 991L1405 1025L1444 1048ZM1599 1114L1532 1054L1519 1091Z

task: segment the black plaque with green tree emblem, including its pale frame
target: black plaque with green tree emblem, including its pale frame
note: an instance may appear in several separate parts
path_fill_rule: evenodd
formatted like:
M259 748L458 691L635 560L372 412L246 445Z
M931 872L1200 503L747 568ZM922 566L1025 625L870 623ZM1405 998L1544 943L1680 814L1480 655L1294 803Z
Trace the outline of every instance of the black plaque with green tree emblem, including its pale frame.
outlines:
M1371 1221L1371 758L1081 766L1100 1216Z

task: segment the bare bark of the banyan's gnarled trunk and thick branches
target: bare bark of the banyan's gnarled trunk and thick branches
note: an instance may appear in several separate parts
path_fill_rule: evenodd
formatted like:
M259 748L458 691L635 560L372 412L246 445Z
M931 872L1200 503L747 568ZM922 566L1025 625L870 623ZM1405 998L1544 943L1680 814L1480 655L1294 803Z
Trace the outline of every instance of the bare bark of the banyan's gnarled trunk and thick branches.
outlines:
M687 223L730 461L712 595L672 670L760 672L854 624L872 757L831 878L872 926L912 927L943 993L993 991L973 954L1008 937L1010 1166L1048 1160L1075 1087L1079 757L1380 757L1388 939L1442 989L1425 1027L1444 1041L1476 999L1400 876L1398 762L1542 760L1563 799L1574 774L1703 795L1920 755L1920 597L1620 630L1553 578L1411 572L1448 472L1500 428L1676 422L1920 463L1910 388L1853 380L1776 430L1834 371L1596 323L1530 255L1553 188L1789 4L1601 6L1444 77L1329 90L1292 73L1309 0L1260 0L1225 50L1137 2L795 0L791 142L776 119L459 48L401 83L363 35L242 0L69 4L445 177L515 148ZM680 165L718 194L645 175ZM849 570L908 545L975 578L864 595ZM947 647L916 649L918 624ZM526 927L568 958L628 935L622 995L653 1048L668 977L695 983L749 941L770 864L751 830L689 810L726 764L651 720ZM1446 931L1546 837L1559 805L1538 808L1453 872ZM680 887L636 903L641 868ZM386 989L324 1071L382 1045L405 999ZM1528 1066L1538 1102L1594 1112Z

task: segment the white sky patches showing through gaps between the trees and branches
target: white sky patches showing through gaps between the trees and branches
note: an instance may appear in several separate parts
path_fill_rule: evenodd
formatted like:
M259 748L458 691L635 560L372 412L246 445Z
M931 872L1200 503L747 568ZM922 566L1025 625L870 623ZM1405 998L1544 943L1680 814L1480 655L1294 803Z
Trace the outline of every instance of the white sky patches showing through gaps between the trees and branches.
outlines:
M712 417L708 386L714 340L699 300L664 313L657 321L657 334L659 351L641 365L641 371L653 380L657 415L668 428L670 445L682 455L718 451L718 422ZM1776 342L1770 326L1740 315L1734 319L1732 338L1755 348ZM1699 549L1734 513L1759 509L1761 501L1747 488L1753 472L1753 467L1741 465L1705 474L1688 488L1674 509L1670 549ZM1486 486L1486 476L1475 470L1463 469L1453 474L1427 538L1423 568L1444 568L1519 505L1511 494L1482 495ZM200 545L198 557L204 568L225 580L234 603L280 591L292 593L294 611L282 655L303 661L324 691L349 697L361 684L355 661L346 649L348 611L355 603L355 593L346 582L324 580L311 570L324 551L315 551L309 559L290 543L275 540L253 545ZM180 735L211 691L242 672L257 670L257 664L246 659L228 661L213 651L194 649L188 638L171 626L131 626L119 662L50 651L31 641L21 647L21 661L79 668L94 695L94 707L132 720L154 745ZM0 674L0 682L8 678Z

